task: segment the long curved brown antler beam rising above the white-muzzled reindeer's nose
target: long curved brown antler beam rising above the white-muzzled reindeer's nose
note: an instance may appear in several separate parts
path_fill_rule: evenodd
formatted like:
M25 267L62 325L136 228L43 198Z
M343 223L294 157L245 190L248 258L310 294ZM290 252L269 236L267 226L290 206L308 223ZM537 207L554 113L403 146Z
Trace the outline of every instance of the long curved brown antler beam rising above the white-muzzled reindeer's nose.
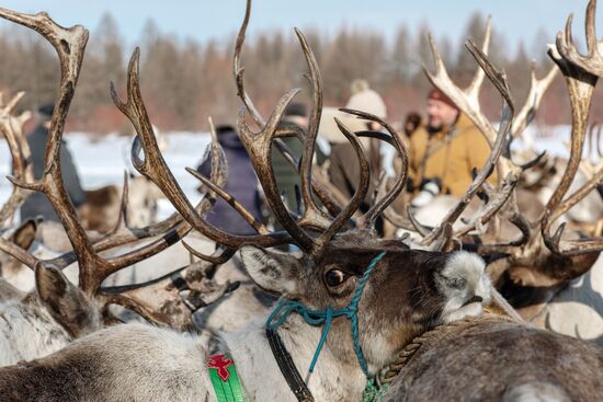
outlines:
M511 99L509 84L507 82L507 76L504 74L504 72L499 71L490 62L488 57L482 51L480 51L471 41L468 41L466 45L471 53L471 56L475 57L481 69L483 69L483 71L488 76L488 79L494 84L503 100L502 118L499 126L499 131L492 146L492 150L490 152L490 156L488 157L488 160L486 161L486 164L474 179L471 185L469 186L469 188L467 188L467 192L459 199L458 204L448 211L448 214L442 221L442 225L440 225L435 230L433 230L428 237L422 240L421 244L423 245L430 245L431 243L433 243L437 238L442 236L446 223L453 225L458 219L474 195L477 194L483 182L493 172L494 165L502 154L502 151L507 149L508 143L511 139L509 136L509 131L513 122L514 105L513 100ZM489 123L488 125L490 126Z

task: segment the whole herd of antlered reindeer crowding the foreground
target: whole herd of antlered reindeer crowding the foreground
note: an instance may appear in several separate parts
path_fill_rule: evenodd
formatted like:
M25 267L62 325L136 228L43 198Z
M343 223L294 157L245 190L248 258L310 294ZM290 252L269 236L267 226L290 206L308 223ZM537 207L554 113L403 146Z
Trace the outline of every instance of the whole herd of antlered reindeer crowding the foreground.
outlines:
M603 400L603 166L582 158L591 97L603 76L595 7L590 0L588 55L576 49L568 19L548 49L555 67L543 79L533 71L519 112L504 72L487 56L490 23L481 46L467 43L478 67L466 89L452 81L431 41L428 78L470 117L491 153L460 199L441 197L417 210L402 194L405 141L374 115L344 110L384 131L353 133L335 122L360 164L351 199L338 197L312 163L322 82L302 32L308 127L282 122L298 89L268 118L254 107L241 65L248 1L234 57L242 102L237 128L282 231L257 221L223 189L228 165L213 127L211 176L190 170L209 191L197 205L184 196L145 107L136 49L125 99L113 85L111 94L136 129L133 164L177 211L158 222L127 219L144 207L133 207L128 193L143 191L128 187L126 177L112 207L115 225L100 232L87 222L109 217L93 207L78 214L57 158L88 31L59 26L46 13L0 9L3 19L49 42L61 71L41 179L33 177L23 138L29 116L14 114L24 94L0 106L14 185L0 210L0 400L217 401L207 365L218 354L236 363L237 400L246 401ZM558 71L571 104L569 158L515 151L511 142L523 136ZM502 99L498 127L479 107L486 79ZM299 159L284 137L304 143ZM371 172L361 137L394 147L395 177ZM277 188L274 147L299 172L297 211ZM486 182L494 170L496 186ZM377 191L362 214L371 181L378 181ZM32 192L46 195L61 227L11 226ZM208 223L205 215L218 197L255 234ZM426 222L425 216L439 218ZM378 234L379 217L396 234ZM298 251L271 250L283 244Z

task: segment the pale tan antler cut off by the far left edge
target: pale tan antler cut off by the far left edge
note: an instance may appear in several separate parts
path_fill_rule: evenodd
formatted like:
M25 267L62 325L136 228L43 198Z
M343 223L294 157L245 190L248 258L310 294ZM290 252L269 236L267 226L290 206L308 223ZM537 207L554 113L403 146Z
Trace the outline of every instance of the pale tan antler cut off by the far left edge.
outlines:
M34 180L31 151L23 136L23 124L31 117L30 112L24 112L19 117L12 116L16 104L23 99L25 92L16 93L11 101L0 110L0 131L4 135L12 159L12 171L20 182ZM30 191L20 186L13 186L9 199L0 210L0 223L12 219L19 206L29 197Z

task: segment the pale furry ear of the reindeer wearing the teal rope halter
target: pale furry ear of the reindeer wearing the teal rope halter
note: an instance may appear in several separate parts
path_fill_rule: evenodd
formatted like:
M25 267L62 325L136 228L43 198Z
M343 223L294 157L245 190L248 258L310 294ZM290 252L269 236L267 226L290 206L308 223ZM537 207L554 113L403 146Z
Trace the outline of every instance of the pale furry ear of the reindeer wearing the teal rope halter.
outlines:
M246 245L241 248L241 260L251 279L264 290L287 296L297 294L303 267L296 257Z

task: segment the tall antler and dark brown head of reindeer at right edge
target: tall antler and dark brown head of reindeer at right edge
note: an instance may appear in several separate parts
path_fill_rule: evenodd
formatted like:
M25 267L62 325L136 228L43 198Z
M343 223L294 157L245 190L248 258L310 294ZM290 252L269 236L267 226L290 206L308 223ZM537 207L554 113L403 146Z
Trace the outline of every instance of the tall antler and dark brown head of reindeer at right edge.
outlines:
M554 189L543 216L534 221L521 221L516 225L522 231L519 241L500 244L480 245L480 254L507 254L510 277L523 286L551 286L566 283L590 269L598 252L603 250L603 239L562 240L565 223L550 234L555 220L567 213L580 199L588 195L603 179L603 170L594 173L587 183L570 196L566 196L574 180L582 158L582 148L590 104L598 81L600 56L594 39L594 0L587 9L587 39L589 57L578 54L571 38L571 16L565 33L557 36L557 49L550 48L549 56L566 78L571 105L571 150L566 171L560 183ZM590 66L590 61L593 65ZM587 68L587 69L585 69ZM508 214L516 219L521 217L516 204L510 204Z

